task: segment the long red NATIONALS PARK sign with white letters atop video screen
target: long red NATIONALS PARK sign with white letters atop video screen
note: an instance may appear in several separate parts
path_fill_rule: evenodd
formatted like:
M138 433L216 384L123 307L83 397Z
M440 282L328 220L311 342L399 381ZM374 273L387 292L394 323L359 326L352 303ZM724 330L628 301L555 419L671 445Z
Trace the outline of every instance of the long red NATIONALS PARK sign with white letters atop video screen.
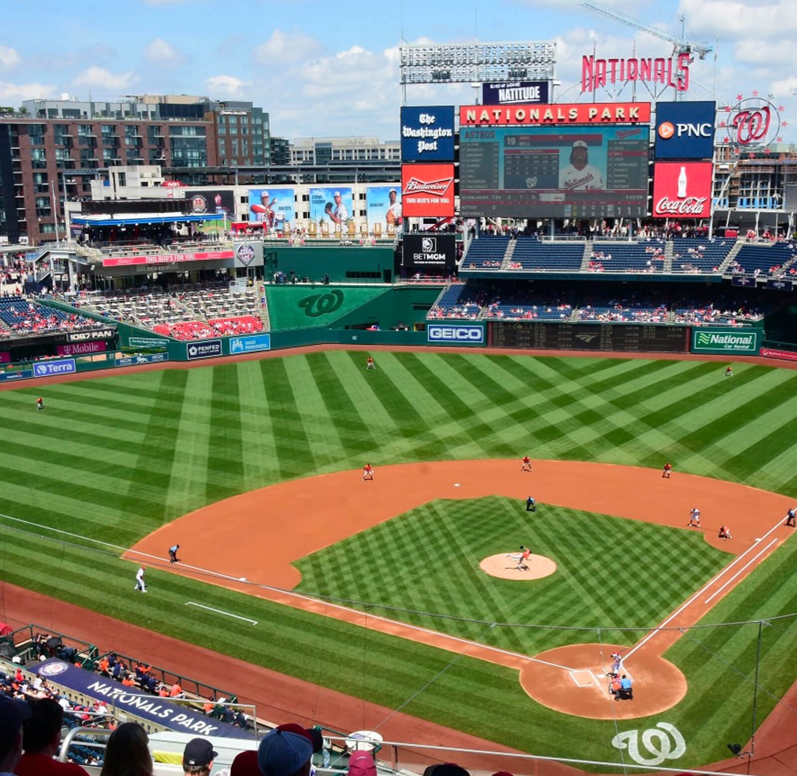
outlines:
M649 123L650 103L462 105L461 127Z

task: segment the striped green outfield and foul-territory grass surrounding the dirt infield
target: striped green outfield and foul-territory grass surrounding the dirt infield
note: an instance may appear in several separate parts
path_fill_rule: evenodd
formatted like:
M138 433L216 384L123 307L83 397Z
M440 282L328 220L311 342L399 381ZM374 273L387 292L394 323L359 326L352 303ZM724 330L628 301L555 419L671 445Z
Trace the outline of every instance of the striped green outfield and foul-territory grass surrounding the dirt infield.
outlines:
M687 753L668 763L679 767L722 758L725 743L744 741L757 626L690 633L669 655L688 676L689 695L664 715L615 728L538 706L506 668L159 570L151 570L151 594L136 597L132 564L81 546L79 535L129 546L210 502L366 459L379 466L528 452L654 468L669 459L677 472L797 496L790 370L738 364L729 380L720 363L380 352L379 370L366 373L364 359L332 351L4 391L0 512L78 536L56 543L45 529L28 525L22 534L0 518L0 578L391 707L428 684L402 711L540 754L618 760L614 732L658 720L686 735ZM42 390L47 410L37 413ZM780 548L711 617L797 611L795 547ZM686 572L692 586L721 558L701 549L703 566ZM661 570L651 562L640 574L636 586L653 588ZM584 602L603 594L584 589L572 599L587 625L600 616ZM189 600L261 625L213 613L198 621ZM666 602L641 606L655 619ZM559 621L566 617L576 617L570 606ZM791 621L764 629L759 721L774 703L768 692L779 695L795 678L795 637Z

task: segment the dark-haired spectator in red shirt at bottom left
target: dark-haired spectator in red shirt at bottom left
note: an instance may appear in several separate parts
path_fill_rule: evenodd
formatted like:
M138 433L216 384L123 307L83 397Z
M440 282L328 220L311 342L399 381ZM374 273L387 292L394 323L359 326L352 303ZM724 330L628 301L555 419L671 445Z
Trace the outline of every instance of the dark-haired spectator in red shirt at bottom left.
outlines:
M86 776L86 770L74 762L53 759L61 749L64 710L56 700L41 698L28 701L30 719L22 723L22 754L17 776Z

